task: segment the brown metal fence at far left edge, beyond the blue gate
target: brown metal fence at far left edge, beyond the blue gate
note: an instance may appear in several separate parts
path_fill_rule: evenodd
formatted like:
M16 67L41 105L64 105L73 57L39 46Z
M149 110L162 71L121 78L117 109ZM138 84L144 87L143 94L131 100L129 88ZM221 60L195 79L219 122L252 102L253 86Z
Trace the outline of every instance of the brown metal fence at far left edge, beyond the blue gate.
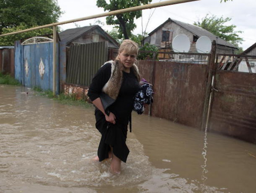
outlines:
M0 72L14 77L14 49L0 49Z

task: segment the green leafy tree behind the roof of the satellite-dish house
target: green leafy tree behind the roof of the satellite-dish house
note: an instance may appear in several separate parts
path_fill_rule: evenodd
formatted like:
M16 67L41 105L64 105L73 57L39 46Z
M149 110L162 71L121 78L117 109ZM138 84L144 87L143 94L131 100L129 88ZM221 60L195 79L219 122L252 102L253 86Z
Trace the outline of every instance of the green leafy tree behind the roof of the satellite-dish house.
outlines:
M239 37L238 33L242 31L235 31L236 25L227 25L226 22L231 20L230 17L217 17L216 15L209 16L208 14L201 19L201 21L194 22L194 25L200 26L214 35L238 46L244 41Z

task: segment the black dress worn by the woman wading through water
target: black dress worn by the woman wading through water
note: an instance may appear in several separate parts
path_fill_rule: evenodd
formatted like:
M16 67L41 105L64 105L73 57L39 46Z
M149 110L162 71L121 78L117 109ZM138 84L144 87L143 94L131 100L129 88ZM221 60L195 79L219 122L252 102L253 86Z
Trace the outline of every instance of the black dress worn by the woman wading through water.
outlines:
M88 96L91 101L99 97L103 86L108 82L111 76L111 63L102 66L92 79L89 87ZM127 126L129 117L133 110L133 98L139 91L139 82L136 79L133 70L130 73L123 71L123 82L116 101L109 107L116 117L116 124L106 121L105 115L96 108L96 128L101 133L101 141L98 147L99 161L108 158L110 146L113 147L113 153L123 162L126 162L129 149L126 146ZM109 126L108 126L109 125Z

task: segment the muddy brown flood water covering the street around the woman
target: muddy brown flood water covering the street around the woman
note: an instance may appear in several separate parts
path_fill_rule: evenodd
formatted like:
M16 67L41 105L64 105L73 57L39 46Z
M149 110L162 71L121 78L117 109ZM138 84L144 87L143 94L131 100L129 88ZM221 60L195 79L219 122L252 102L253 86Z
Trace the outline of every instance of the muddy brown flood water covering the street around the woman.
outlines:
M256 192L256 145L133 114L121 174L94 162L94 109L0 85L0 192Z

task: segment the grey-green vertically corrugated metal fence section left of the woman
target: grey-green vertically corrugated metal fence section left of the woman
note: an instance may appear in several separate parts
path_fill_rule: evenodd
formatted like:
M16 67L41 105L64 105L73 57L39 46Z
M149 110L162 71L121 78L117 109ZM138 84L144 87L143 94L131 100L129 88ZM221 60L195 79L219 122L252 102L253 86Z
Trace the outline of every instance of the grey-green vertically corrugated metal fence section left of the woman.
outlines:
M72 45L68 56L66 82L89 86L108 59L108 42Z

